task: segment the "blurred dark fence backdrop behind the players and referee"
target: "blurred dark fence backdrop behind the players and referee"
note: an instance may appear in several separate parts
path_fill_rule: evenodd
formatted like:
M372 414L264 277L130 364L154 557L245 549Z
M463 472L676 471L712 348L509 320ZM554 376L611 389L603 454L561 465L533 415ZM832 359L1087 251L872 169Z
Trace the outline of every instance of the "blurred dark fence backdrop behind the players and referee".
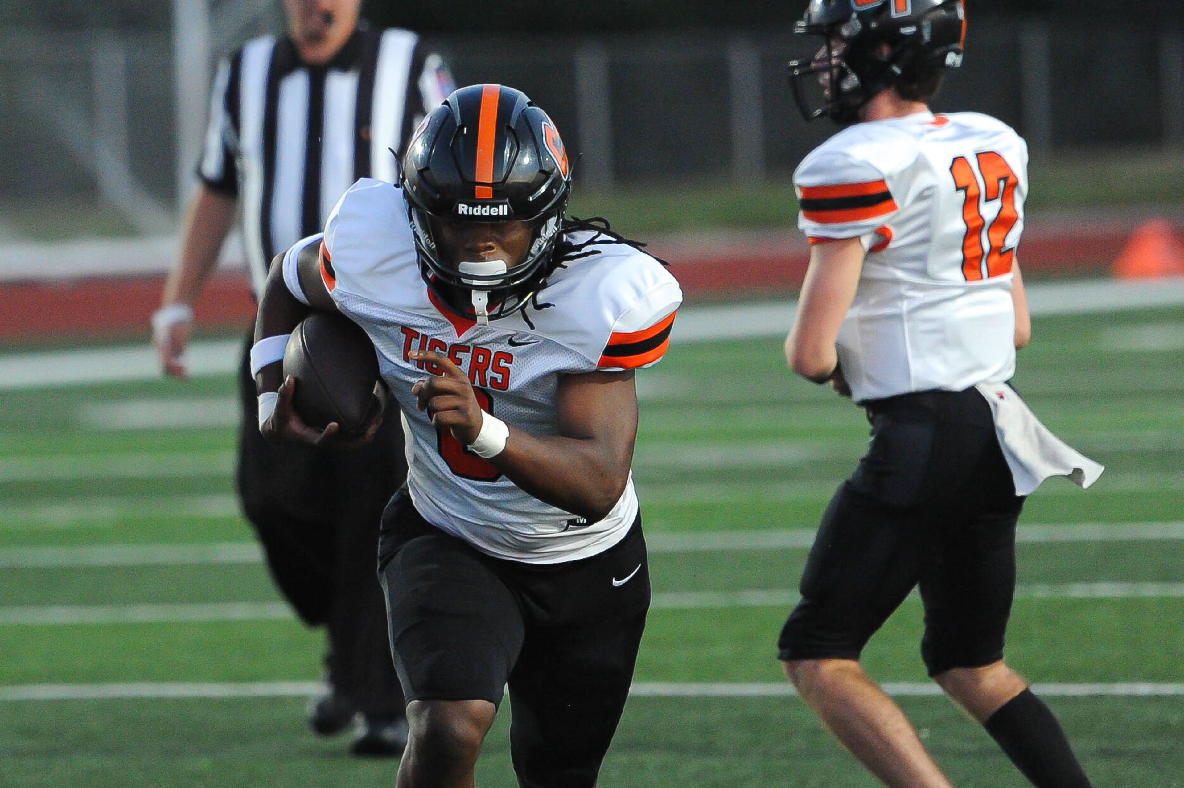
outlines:
M996 115L1047 155L1179 151L1182 5L969 0L969 56L935 108ZM174 233L213 64L279 31L279 1L5 6L0 241ZM583 154L578 180L628 189L784 181L832 131L802 123L787 90L804 6L367 0L363 13L437 39L461 84L526 90Z

